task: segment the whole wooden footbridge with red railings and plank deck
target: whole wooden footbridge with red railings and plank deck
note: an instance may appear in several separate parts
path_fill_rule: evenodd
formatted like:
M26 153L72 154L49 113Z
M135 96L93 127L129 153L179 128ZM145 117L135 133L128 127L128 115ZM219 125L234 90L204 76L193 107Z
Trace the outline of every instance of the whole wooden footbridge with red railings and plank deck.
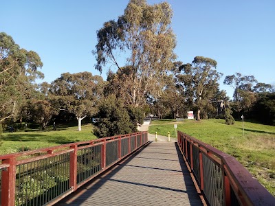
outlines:
M0 205L275 205L231 157L146 132L0 156Z

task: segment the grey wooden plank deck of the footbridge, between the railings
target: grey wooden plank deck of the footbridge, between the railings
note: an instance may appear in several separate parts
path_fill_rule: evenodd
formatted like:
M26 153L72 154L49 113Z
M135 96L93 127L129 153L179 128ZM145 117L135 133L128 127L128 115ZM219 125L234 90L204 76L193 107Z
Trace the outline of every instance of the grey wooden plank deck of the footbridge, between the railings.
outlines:
M181 153L152 142L56 205L202 205Z

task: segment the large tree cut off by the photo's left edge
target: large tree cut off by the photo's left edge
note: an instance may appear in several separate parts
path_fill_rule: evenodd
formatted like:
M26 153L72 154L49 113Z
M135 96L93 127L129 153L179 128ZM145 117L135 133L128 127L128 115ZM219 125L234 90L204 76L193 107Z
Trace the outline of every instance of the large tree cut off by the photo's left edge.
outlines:
M11 36L0 33L0 122L15 120L25 99L34 91L34 80L43 78L38 71L43 63L36 52L26 51Z

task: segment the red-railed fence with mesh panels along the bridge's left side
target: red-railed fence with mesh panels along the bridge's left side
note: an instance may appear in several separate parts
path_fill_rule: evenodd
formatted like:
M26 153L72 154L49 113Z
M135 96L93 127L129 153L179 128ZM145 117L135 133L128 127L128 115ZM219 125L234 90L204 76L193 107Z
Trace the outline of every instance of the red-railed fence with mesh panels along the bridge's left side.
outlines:
M0 205L53 205L140 148L147 132L0 156Z

